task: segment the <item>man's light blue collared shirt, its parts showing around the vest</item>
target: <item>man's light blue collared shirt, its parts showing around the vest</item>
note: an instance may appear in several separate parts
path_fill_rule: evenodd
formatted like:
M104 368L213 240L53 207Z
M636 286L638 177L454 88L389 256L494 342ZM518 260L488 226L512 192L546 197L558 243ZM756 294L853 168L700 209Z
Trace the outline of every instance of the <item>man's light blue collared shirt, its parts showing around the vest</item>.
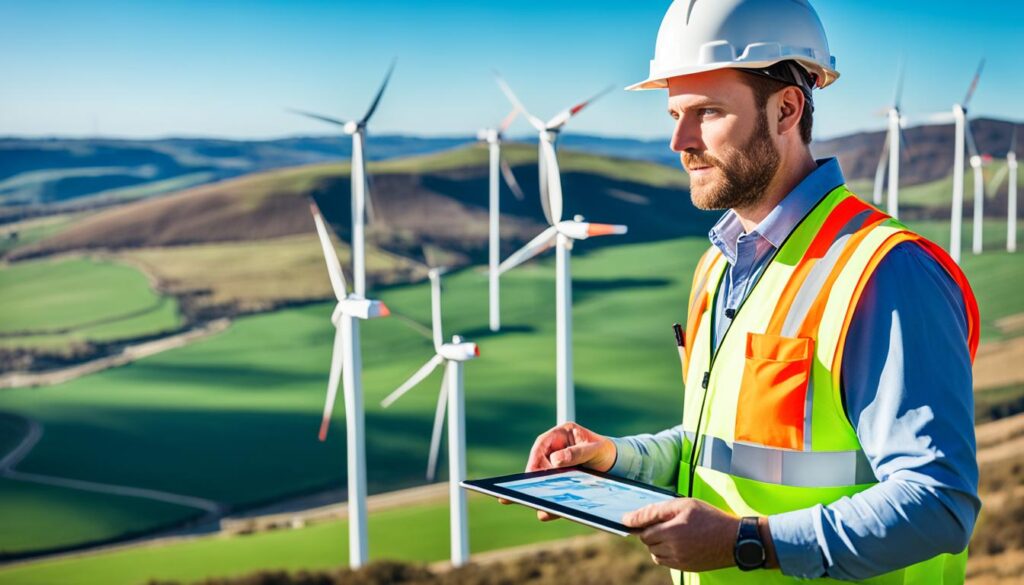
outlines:
M715 346L800 220L845 183L836 159L808 175L750 234L728 211L710 238L729 262ZM879 264L854 312L841 373L847 415L879 484L827 506L769 516L783 574L861 580L962 551L981 502L967 318L959 289L920 246ZM676 488L682 426L612 440L611 473Z

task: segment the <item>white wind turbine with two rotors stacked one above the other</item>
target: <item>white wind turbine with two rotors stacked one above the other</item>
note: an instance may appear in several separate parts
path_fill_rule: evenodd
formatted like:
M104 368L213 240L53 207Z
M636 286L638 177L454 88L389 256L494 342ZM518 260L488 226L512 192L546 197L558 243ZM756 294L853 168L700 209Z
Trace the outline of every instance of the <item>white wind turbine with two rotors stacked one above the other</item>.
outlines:
M575 419L575 393L572 385L572 276L569 270L572 243L595 236L621 236L626 234L627 227L608 223L588 223L580 215L562 220L562 177L558 169L555 142L565 123L589 103L607 93L608 89L568 110L563 110L551 120L544 122L522 107L512 88L501 77L498 78L498 84L512 105L523 113L530 125L540 133L538 170L541 177L541 205L544 207L544 216L549 225L547 229L506 258L499 270L504 274L551 246L555 247L555 381L557 420L561 424Z

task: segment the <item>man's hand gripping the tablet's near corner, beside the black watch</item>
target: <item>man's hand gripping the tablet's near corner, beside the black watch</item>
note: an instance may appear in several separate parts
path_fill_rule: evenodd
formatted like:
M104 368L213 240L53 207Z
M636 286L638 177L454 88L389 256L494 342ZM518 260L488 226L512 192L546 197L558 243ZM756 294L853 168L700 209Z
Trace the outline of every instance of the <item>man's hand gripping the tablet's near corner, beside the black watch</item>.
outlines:
M624 515L623 524L635 529L651 558L663 567L699 572L735 566L732 551L739 518L700 500L651 504Z

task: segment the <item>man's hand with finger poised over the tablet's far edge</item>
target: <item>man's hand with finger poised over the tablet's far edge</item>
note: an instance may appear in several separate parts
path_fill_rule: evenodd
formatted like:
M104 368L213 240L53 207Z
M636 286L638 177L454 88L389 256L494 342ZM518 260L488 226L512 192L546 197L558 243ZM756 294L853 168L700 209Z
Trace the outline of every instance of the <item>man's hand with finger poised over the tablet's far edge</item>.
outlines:
M615 444L610 438L584 428L574 422L560 424L541 434L534 442L526 461L526 471L555 469L580 465L598 471L607 471L615 464ZM499 499L503 504L508 500ZM538 510L543 521L558 516Z

